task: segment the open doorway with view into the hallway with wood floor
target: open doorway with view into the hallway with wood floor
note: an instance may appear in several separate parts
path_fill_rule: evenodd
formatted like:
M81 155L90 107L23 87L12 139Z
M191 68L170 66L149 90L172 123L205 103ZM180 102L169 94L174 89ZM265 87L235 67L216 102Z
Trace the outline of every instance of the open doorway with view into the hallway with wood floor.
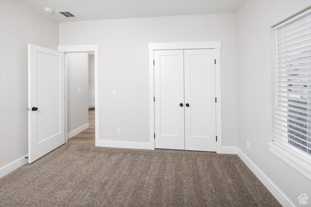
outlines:
M94 52L66 59L68 143L95 145Z

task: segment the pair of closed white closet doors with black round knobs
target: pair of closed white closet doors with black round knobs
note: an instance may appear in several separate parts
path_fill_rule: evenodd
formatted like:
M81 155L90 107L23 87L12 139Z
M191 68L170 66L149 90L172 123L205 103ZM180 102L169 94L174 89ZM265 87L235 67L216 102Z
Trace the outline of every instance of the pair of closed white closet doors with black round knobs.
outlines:
M155 148L216 151L215 50L156 50Z

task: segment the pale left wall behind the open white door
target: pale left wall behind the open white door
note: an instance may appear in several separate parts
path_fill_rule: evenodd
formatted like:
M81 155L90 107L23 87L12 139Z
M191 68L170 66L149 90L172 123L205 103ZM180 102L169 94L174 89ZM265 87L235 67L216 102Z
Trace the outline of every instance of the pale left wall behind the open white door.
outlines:
M0 168L28 155L28 43L57 50L58 22L1 0Z

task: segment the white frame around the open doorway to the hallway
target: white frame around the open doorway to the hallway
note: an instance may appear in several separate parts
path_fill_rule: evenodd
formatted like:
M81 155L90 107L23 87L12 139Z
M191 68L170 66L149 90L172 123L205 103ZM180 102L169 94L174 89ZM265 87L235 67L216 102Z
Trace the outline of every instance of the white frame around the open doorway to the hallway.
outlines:
M58 46L58 51L65 53L65 142L67 142L67 53L94 52L94 80L95 80L95 146L99 141L99 75L98 53L99 45L64 45Z

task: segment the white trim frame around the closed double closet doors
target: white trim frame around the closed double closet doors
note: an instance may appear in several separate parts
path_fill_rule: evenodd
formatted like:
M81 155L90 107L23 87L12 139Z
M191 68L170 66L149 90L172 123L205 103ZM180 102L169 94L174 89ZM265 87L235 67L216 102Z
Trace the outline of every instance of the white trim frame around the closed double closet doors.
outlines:
M149 43L149 116L150 116L150 148L155 149L155 106L154 106L154 50L186 50L215 49L215 80L216 80L216 152L222 153L221 133L221 74L220 74L221 41L180 42L180 43ZM216 137L215 137L216 138Z

